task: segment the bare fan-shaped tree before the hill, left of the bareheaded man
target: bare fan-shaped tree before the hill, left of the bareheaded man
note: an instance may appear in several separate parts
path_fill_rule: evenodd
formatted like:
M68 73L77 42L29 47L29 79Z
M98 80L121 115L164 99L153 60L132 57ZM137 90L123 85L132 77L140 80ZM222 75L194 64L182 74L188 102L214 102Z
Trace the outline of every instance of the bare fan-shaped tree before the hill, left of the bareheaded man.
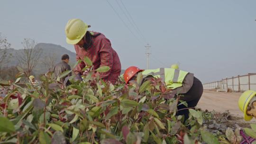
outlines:
M24 38L22 51L17 54L19 65L29 76L37 66L42 54L42 49L36 46L34 39Z

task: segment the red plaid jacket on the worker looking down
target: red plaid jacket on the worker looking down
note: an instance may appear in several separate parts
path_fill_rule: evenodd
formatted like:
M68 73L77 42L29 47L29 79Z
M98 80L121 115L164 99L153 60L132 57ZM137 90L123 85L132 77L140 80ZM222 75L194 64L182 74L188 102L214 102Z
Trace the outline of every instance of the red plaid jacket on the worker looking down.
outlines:
M93 32L94 35L99 33ZM83 48L80 48L79 45L74 45L76 52L76 60L82 60L85 56L89 57L93 63L94 69L97 69L101 66L109 66L110 71L100 72L100 77L103 80L110 81L112 84L115 84L118 80L118 77L121 72L121 63L118 57L117 52L111 47L110 40L106 38L103 34L92 37L92 45L85 51ZM82 74L82 69L85 65L77 65L73 71Z

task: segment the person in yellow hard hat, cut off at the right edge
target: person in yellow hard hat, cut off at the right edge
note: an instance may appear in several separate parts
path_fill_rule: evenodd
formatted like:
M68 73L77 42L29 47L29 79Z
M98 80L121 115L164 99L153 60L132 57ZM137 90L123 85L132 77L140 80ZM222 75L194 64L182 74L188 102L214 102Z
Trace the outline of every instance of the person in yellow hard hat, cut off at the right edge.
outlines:
M244 113L244 119L250 121L256 118L256 91L247 90L238 99L238 106Z

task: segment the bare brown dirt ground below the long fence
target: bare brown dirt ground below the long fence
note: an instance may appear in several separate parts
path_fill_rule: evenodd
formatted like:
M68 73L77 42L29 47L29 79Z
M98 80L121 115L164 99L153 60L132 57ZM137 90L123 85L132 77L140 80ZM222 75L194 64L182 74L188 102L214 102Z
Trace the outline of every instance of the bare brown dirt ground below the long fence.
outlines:
M240 92L216 92L204 90L200 101L197 104L198 108L215 110L217 112L225 112L229 110L233 121L239 121L243 125L255 123L253 118L250 122L243 120L243 113L238 108L238 99L242 93Z

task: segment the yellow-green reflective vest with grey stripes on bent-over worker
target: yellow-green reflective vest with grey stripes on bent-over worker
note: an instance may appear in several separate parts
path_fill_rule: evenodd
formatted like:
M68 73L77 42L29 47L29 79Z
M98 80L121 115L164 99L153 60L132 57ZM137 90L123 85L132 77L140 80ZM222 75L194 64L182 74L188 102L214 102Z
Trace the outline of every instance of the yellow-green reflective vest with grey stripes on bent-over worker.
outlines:
M189 72L181 71L172 68L158 68L154 70L145 70L142 72L143 78L147 76L153 76L155 78L161 78L165 81L167 88L176 89L182 87L182 83Z

